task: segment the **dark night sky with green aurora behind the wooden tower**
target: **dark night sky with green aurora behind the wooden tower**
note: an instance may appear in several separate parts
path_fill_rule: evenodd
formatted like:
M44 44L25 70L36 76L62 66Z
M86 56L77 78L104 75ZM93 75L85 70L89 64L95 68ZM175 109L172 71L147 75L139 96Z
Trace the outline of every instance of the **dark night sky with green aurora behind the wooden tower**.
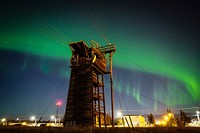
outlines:
M68 44L80 40L116 44L115 110L194 113L200 106L197 0L8 0L0 4L0 118L49 117L57 100L64 114Z

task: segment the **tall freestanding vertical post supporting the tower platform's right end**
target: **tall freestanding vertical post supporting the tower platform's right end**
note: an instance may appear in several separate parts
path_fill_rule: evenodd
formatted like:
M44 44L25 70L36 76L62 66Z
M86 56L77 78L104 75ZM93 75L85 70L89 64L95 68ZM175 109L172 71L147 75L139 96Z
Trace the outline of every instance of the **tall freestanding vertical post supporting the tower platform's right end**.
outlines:
M112 79L112 53L110 58L110 87L111 87L111 112L112 112L112 127L114 127L114 91L113 91L113 79Z

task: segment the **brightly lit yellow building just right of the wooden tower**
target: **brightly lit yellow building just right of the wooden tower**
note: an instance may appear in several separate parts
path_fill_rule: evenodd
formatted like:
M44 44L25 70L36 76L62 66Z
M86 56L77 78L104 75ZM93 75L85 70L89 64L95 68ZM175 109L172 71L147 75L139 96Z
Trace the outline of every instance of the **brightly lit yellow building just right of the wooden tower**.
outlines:
M125 127L143 127L146 125L145 118L141 115L123 115L122 120Z

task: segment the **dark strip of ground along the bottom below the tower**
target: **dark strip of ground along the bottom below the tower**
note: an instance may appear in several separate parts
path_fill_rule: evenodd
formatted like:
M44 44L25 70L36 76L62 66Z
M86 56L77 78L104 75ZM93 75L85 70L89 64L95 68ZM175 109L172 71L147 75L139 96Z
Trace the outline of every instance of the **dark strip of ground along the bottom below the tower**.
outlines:
M200 133L200 128L53 128L53 127L0 127L0 133Z

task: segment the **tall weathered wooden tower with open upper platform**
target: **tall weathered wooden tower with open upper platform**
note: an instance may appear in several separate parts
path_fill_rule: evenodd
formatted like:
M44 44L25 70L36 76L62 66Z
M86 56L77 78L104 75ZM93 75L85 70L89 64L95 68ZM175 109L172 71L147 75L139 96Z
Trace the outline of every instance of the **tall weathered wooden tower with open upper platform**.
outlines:
M104 74L110 74L111 101L112 55L116 51L114 44L103 47L94 41L89 47L85 42L71 43L71 76L64 115L64 127L106 125ZM109 56L107 56L109 54ZM108 63L110 62L110 63ZM108 64L110 65L107 70ZM112 102L113 117L113 102ZM113 123L113 119L112 119Z

